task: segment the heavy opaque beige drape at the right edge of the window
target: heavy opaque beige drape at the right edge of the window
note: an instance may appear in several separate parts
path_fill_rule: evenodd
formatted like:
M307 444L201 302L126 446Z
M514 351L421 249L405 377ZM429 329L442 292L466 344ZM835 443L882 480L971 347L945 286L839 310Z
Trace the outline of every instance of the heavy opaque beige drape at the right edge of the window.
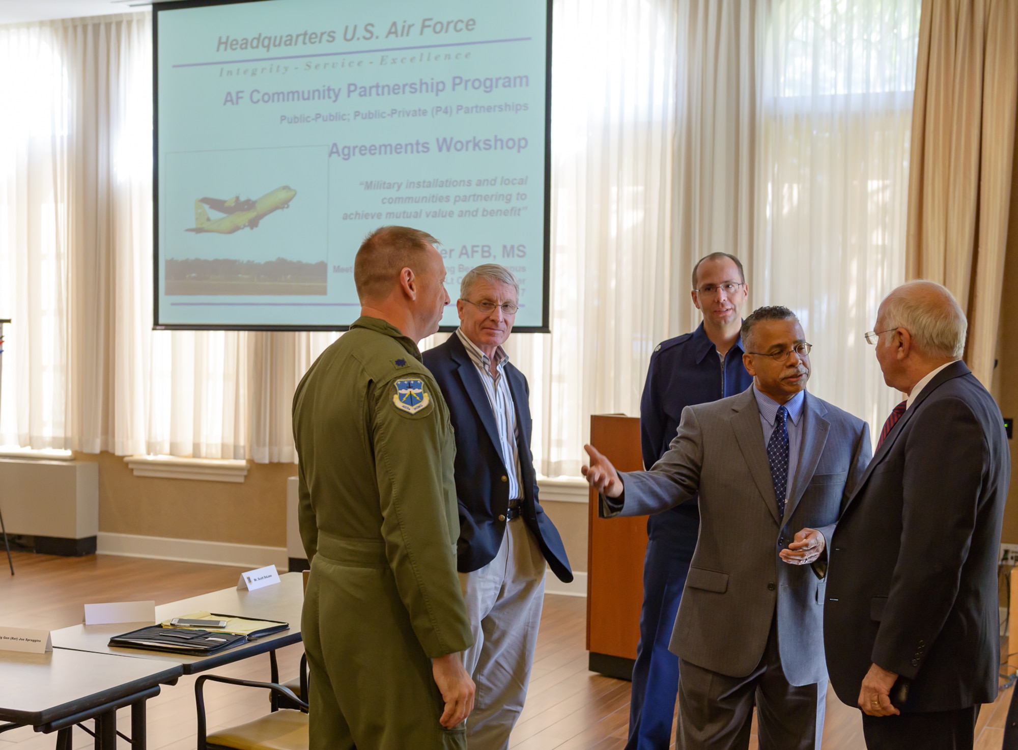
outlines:
M965 360L989 386L1018 101L1018 2L923 0L912 114L906 277L968 314Z

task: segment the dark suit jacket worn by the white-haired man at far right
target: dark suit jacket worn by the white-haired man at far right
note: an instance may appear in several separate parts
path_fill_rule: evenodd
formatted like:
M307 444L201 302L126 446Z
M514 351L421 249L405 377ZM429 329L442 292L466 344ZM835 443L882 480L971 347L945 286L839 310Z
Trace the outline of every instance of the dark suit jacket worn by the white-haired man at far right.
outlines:
M1010 457L1004 420L963 362L937 373L888 433L829 546L828 671L855 705L875 662L902 711L997 698L997 555Z

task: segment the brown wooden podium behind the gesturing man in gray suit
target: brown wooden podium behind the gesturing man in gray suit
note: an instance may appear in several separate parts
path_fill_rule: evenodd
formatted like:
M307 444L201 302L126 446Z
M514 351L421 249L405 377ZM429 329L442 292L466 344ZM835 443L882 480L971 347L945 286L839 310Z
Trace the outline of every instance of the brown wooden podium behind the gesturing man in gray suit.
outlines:
M590 417L590 444L619 471L640 471L639 419ZM598 518L591 489L587 521L586 650L589 668L619 680L632 678L643 603L646 517Z

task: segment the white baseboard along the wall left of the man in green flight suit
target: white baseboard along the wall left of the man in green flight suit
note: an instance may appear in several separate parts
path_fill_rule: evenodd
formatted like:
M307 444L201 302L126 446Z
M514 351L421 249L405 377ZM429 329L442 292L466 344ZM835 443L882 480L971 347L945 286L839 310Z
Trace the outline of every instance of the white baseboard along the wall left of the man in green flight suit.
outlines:
M211 542L200 539L172 539L140 534L99 532L96 551L123 557L172 559L182 562L206 562L214 566L263 568L274 565L280 571L289 568L286 547L266 547L257 544Z

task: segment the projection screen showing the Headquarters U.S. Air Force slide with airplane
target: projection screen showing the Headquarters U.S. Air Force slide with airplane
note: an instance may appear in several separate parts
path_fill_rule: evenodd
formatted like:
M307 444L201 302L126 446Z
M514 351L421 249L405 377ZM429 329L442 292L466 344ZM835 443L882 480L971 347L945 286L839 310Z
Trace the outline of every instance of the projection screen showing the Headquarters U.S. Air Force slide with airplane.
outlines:
M501 263L517 330L547 329L548 0L167 5L157 327L348 326L357 248L400 224L440 240L453 301Z

